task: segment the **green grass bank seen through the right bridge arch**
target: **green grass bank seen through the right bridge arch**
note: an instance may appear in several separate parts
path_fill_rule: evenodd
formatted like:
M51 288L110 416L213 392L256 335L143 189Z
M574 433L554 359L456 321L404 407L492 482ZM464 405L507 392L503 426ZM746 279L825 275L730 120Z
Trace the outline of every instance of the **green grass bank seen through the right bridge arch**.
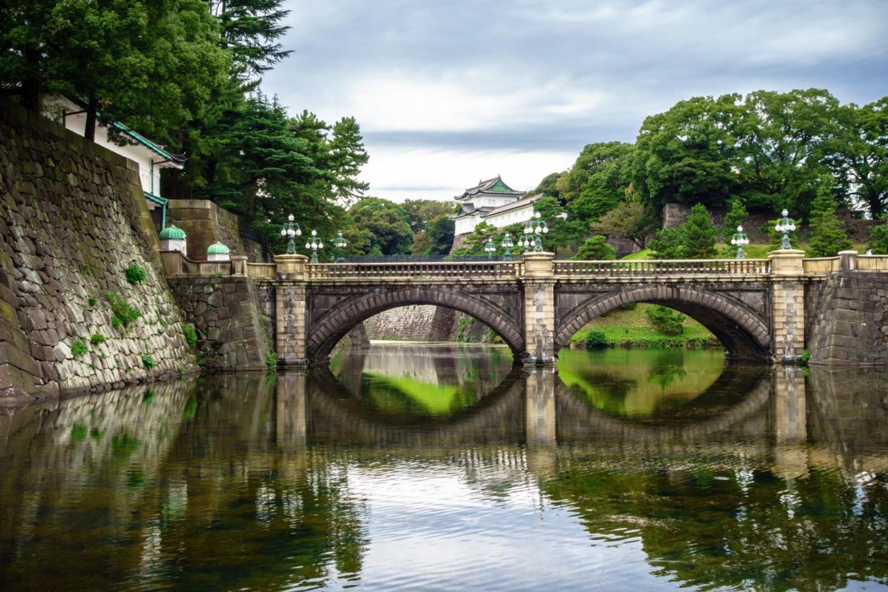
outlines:
M679 335L665 335L658 331L647 316L647 309L653 304L638 304L636 308L617 308L586 324L575 333L568 344L572 348L587 347L590 336L597 332L604 343L599 347L609 348L722 348L718 339L702 324L686 316Z

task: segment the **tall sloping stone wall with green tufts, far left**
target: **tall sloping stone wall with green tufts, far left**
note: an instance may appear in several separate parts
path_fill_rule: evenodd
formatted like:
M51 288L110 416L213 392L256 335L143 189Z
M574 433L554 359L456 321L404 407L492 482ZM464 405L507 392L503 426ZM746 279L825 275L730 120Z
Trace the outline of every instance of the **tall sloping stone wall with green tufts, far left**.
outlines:
M193 368L158 248L135 163L2 100L0 399ZM127 282L130 265L142 283ZM141 313L129 328L107 292Z

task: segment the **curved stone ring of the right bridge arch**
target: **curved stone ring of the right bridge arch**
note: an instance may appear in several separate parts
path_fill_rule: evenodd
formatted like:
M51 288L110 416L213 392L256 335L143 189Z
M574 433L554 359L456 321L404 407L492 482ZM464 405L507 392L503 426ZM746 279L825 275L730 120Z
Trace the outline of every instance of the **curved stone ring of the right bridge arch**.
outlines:
M584 324L631 302L661 304L694 318L722 342L731 356L746 359L770 356L771 331L763 316L718 292L686 285L615 290L583 302L561 316L555 328L555 351L563 348Z

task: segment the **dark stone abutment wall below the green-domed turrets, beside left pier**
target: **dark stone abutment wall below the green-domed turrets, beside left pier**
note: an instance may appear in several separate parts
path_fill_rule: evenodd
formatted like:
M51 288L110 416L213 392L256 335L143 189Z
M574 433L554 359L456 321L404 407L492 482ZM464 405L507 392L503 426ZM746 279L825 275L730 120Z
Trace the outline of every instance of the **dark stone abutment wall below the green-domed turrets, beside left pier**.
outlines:
M274 351L267 289L248 277L176 277L172 293L198 334L202 363L219 370L266 368Z

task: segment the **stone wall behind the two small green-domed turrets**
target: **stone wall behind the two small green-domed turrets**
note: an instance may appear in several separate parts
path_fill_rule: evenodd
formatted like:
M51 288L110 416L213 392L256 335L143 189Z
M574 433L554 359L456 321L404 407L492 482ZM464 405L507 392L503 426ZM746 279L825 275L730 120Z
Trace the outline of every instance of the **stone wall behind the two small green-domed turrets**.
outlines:
M223 210L207 199L171 199L167 205L167 223L185 230L188 257L207 258L210 244L225 244L232 255L243 255L254 263L267 260L261 244L241 236L237 215Z

